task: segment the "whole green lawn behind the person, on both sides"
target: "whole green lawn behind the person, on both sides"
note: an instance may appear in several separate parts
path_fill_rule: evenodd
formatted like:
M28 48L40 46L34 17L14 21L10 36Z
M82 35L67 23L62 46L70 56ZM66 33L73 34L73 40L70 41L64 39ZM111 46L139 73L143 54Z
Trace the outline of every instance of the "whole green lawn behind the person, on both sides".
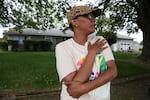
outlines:
M149 73L138 54L115 53L118 78ZM146 66L146 67L143 67ZM54 52L0 52L0 90L60 88Z

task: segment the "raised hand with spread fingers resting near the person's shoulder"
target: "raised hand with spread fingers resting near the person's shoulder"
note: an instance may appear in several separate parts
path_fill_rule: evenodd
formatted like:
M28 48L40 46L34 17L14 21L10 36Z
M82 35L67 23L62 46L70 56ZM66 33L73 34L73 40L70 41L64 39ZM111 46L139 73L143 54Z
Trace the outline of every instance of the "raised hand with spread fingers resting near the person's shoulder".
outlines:
M89 43L89 45L88 45L88 51L89 52L94 52L94 53L98 54L99 52L102 52L104 49L107 48L107 46L105 46L106 43L107 43L107 41L105 39L102 39L102 40L98 39L92 45L91 45L91 43Z

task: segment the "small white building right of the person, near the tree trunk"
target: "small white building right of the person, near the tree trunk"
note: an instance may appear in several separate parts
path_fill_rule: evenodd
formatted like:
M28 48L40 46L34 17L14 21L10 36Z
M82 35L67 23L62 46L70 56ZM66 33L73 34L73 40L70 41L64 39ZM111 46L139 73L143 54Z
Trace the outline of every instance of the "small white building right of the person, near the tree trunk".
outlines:
M140 45L134 38L117 34L117 42L111 45L113 51L139 51Z

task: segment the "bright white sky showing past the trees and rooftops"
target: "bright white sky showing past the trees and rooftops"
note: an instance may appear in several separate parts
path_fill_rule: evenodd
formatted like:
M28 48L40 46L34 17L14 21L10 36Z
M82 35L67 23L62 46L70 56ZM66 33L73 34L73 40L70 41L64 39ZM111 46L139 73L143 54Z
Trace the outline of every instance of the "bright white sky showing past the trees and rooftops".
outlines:
M83 0L83 1L79 0L78 2L75 2L74 5L84 5L84 4L86 4L87 1L88 0ZM89 1L94 3L94 0L89 0ZM0 38L3 37L3 31L4 30L8 30L8 28L3 28L0 25ZM135 33L135 34L128 35L125 30L122 30L122 31L119 31L118 34L132 37L132 38L134 38L134 41L137 41L138 43L140 43L143 40L143 35L142 35L141 31L139 31L138 33Z

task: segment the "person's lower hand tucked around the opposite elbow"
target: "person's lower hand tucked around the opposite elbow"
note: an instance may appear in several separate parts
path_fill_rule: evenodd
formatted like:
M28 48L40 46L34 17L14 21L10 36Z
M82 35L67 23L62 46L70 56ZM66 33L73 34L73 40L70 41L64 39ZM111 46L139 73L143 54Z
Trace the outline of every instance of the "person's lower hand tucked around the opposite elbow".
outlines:
M67 81L65 82L67 85L67 91L70 96L73 98L79 98L81 95L84 94L83 85L81 82L78 81Z

